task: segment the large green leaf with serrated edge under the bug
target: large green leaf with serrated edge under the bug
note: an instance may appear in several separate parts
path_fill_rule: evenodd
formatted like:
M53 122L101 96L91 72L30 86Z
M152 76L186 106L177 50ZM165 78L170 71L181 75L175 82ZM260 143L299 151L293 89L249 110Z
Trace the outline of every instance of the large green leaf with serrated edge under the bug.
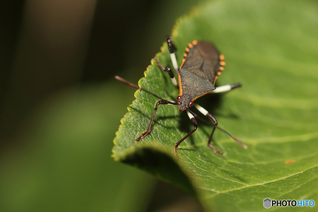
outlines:
M217 130L213 142L225 155L215 154L206 145L211 126L198 121L176 160L174 144L193 126L186 113L171 105L159 106L152 131L137 143L134 139L147 129L158 99L136 91L114 139L115 160L194 189L207 211L265 210L266 198L317 200L317 8L316 1L212 1L180 18L172 32L178 64L189 42L208 40L227 63L217 85L243 84L197 102L249 149ZM172 67L166 44L157 57ZM154 60L139 85L164 99L178 95Z

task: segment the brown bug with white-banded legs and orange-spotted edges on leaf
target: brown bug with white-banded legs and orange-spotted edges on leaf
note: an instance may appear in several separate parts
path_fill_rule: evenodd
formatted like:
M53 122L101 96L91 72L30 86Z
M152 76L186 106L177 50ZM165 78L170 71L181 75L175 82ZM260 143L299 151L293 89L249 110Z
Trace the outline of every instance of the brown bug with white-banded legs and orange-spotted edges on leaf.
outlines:
M218 127L218 121L216 120L214 116L212 116L207 110L205 110L200 105L194 103L194 101L197 98L207 93L226 92L241 86L240 83L237 83L232 85L223 85L220 87L214 87L215 81L218 79L218 76L224 70L225 61L224 61L223 54L220 54L217 48L210 42L194 40L191 43L189 43L188 46L185 48L182 64L178 68L176 56L174 53L174 46L170 38L167 39L167 44L168 44L168 48L170 52L170 58L171 58L173 67L176 71L176 74L178 76L179 83L177 84L174 73L172 72L170 67L164 68L160 64L160 62L157 60L156 57L154 59L156 60L157 65L159 65L162 68L162 70L165 70L169 73L172 83L176 86L176 88L179 89L179 95L177 96L176 101L162 99L161 97L157 96L156 94L152 92L149 92L118 76L115 76L115 78L121 81L122 83L135 87L139 90L148 92L149 94L157 97L158 99L161 99L156 104L155 110L152 114L152 117L149 123L149 127L147 128L146 132L143 133L138 138L136 138L135 140L139 141L151 131L151 127L152 127L155 114L159 105L178 105L180 112L182 111L187 112L190 120L192 121L194 128L190 133L188 133L181 140L176 142L174 147L174 152L175 152L175 155L177 156L177 148L180 145L180 143L186 138L188 138L194 131L197 130L198 124L196 119L202 120L202 118L200 118L196 113L190 110L190 107L195 106L199 112L204 114L206 117L208 117L212 121L212 123L208 122L211 125L213 125L213 129L208 140L208 146L215 153L219 153L223 155L222 151L216 149L215 147L211 145L211 139L216 128L218 128L222 132L229 135L239 145L247 149L247 146L244 143L242 143L237 138L233 137L230 133L226 132L222 128Z

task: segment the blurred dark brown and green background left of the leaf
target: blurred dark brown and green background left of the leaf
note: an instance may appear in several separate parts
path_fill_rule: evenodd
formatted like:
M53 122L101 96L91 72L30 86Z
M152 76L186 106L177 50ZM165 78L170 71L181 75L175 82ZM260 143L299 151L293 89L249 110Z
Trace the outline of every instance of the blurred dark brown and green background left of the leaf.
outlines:
M115 132L177 17L202 1L0 3L1 211L202 211L114 162Z

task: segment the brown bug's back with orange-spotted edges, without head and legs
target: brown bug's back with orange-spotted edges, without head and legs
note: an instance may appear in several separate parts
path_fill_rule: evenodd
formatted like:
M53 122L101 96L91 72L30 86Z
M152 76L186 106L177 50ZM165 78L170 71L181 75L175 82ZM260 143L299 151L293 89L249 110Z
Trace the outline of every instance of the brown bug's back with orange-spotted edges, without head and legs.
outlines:
M221 74L220 67L222 70L224 69L223 65L220 64L223 59L223 55L220 55L217 48L210 42L189 43L179 71L183 93L191 92L191 89L194 89L195 91L192 93L196 92L196 96L193 97L198 97L214 90L215 80ZM192 80L187 79L189 77ZM196 82L197 85L195 85Z

